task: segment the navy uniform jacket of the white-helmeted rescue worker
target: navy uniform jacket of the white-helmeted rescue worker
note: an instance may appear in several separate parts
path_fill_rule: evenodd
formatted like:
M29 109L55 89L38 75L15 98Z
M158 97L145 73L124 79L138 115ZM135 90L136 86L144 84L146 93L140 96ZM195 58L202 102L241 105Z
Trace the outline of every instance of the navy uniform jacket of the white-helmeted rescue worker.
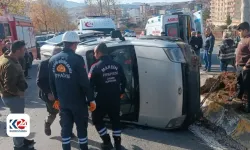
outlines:
M50 88L55 99L59 99L61 108L82 109L88 113L87 100L93 101L94 93L84 66L82 56L71 49L64 48L62 52L50 58Z

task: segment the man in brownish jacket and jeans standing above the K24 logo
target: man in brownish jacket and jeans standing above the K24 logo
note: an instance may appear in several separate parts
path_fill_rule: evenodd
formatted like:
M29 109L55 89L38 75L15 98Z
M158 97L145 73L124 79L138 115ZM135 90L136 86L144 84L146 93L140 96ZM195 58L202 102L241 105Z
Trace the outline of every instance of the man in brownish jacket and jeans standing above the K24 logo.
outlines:
M9 54L0 57L0 91L3 103L11 113L24 113L24 91L28 88L23 70L18 62L24 57L24 41L15 41ZM13 138L14 149L31 149L34 141L23 137Z

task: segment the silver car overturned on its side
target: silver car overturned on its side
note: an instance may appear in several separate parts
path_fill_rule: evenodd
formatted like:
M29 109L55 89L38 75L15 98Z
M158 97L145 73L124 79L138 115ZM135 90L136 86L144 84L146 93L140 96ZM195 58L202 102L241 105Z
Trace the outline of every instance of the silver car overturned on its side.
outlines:
M120 36L84 42L81 55L87 72L96 63L94 48L105 42L111 58L120 63L127 79L121 120L160 129L187 127L200 113L200 71L197 56L178 38ZM117 40L119 38L121 40Z

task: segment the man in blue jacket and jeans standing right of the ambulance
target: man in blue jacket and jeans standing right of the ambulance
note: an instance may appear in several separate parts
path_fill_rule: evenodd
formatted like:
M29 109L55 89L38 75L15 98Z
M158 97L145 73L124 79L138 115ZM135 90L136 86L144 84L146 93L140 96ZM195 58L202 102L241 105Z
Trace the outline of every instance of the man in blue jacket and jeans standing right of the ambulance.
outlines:
M203 60L205 61L204 71L211 71L212 66L212 53L214 49L215 38L210 28L206 28L206 41L205 41L205 52L203 55Z

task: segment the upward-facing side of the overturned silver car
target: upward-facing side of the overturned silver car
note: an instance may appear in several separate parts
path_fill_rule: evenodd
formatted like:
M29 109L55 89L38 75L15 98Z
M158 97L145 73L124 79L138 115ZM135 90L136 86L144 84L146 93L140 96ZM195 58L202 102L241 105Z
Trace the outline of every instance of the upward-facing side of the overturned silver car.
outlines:
M146 47L160 47L160 48L170 48L170 47L178 47L175 41L171 40L162 40L162 39L148 39L148 38L132 38L126 37L125 41L121 41L119 39L112 39L110 37L107 38L98 38L95 40L82 42L78 45L76 53L81 55L85 55L87 51L93 50L98 44L105 43L108 47L117 47L117 46L146 46Z

